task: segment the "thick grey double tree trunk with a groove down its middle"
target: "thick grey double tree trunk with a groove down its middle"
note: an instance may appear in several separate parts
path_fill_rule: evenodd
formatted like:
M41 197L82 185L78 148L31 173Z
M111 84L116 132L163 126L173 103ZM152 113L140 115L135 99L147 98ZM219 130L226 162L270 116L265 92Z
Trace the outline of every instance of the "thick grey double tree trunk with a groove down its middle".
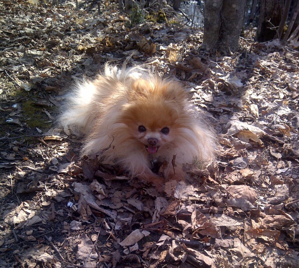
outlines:
M226 54L237 51L245 0L206 0L201 49Z

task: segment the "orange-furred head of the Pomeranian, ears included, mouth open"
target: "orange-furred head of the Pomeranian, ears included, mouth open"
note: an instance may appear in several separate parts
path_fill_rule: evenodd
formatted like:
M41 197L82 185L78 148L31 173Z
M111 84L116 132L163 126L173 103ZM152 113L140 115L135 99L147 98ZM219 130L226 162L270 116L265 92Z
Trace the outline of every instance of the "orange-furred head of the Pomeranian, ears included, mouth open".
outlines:
M132 85L121 122L133 140L150 154L177 146L179 129L184 127L184 89L176 82L143 80Z

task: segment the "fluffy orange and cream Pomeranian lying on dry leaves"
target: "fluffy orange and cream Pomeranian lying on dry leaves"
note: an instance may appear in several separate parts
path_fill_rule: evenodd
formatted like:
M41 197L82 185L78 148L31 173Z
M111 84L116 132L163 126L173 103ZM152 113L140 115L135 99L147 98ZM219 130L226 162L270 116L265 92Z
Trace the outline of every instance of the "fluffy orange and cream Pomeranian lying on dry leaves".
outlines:
M65 97L59 121L85 135L82 154L112 161L159 189L163 177L184 180L184 163L214 157L215 135L177 81L106 64L103 74L77 83ZM160 169L153 173L156 162Z

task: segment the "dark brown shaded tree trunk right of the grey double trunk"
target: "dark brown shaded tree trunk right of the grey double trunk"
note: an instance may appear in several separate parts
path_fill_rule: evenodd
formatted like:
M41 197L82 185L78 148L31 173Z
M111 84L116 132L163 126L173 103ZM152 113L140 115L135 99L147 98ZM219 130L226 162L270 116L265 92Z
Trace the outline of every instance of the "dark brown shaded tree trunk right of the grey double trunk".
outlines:
M256 34L258 42L266 42L274 39L277 34L277 27L282 18L282 10L283 1L262 0L259 25Z

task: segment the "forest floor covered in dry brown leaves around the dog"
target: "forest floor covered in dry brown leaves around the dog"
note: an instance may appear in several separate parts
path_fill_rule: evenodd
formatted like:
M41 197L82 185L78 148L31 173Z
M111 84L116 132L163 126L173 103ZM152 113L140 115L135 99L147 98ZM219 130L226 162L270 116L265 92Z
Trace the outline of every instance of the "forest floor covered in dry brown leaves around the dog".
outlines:
M128 29L115 3L0 0L0 267L298 267L299 43L212 56L165 7ZM104 63L181 80L219 157L164 194L55 129L62 93Z

